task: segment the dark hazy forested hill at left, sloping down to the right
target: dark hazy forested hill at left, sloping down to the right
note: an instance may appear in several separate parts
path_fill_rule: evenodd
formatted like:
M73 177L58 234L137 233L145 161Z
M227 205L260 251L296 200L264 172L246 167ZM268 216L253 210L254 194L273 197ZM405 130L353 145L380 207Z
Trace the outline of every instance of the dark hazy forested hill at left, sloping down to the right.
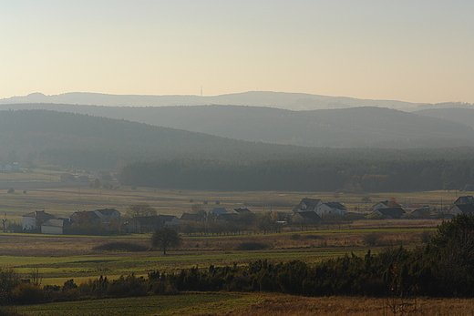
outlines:
M253 161L311 155L316 148L246 142L170 127L73 113L0 112L0 158L77 168L113 168L119 160L224 158Z

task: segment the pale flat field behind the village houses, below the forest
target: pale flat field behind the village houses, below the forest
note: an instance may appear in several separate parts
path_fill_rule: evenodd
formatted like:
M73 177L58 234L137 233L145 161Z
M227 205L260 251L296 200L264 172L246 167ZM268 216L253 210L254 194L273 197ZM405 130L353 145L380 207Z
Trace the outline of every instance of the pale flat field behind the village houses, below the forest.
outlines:
M120 212L135 203L146 202L160 214L179 216L191 211L193 204L204 209L248 207L252 211L276 210L289 212L302 198L318 198L344 203L349 210L368 211L379 200L395 197L399 203L422 203L431 208L446 208L457 197L455 191L415 193L337 193L334 192L278 192L278 191L195 191L180 189L150 189L119 186L114 189L90 188L89 183L60 181L59 171L34 169L20 173L0 172L0 214L11 221L20 222L21 216L34 210L45 209L57 216L70 216L77 210L114 208ZM92 175L89 175L94 178ZM103 182L103 181L102 181ZM7 193L8 189L15 193ZM24 191L26 191L24 193ZM364 203L368 197L372 202ZM219 205L216 204L219 203ZM207 203L207 204L204 204Z

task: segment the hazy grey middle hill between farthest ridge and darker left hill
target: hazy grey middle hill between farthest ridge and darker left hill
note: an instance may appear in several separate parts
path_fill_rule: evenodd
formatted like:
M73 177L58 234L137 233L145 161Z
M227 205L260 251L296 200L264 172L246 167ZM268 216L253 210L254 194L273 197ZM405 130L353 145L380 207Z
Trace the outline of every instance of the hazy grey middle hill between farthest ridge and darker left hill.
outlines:
M443 148L471 146L474 129L459 122L383 107L290 111L272 107L95 107L54 104L43 107L93 116L128 119L224 138L305 147Z

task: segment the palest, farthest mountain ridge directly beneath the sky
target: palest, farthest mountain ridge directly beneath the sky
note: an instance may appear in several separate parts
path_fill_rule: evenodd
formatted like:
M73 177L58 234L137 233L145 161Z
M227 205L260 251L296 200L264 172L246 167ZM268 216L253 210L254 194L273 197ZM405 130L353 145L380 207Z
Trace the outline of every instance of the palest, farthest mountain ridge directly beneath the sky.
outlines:
M86 92L69 92L46 96L32 93L24 97L0 99L0 104L57 103L73 105L94 105L107 107L166 107L232 105L252 107L277 107L291 110L312 110L345 107L391 107L412 108L420 104L395 100L370 100L354 97L327 97L304 93L271 91L249 91L214 97L200 96L136 96L108 95Z

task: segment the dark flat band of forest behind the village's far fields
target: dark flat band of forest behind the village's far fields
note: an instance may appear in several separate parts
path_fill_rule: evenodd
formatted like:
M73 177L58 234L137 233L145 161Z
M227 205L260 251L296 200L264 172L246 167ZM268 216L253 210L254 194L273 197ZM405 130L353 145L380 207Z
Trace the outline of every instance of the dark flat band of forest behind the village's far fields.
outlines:
M122 170L120 183L175 189L416 191L474 184L474 159L323 158L238 163L223 159L162 159Z

